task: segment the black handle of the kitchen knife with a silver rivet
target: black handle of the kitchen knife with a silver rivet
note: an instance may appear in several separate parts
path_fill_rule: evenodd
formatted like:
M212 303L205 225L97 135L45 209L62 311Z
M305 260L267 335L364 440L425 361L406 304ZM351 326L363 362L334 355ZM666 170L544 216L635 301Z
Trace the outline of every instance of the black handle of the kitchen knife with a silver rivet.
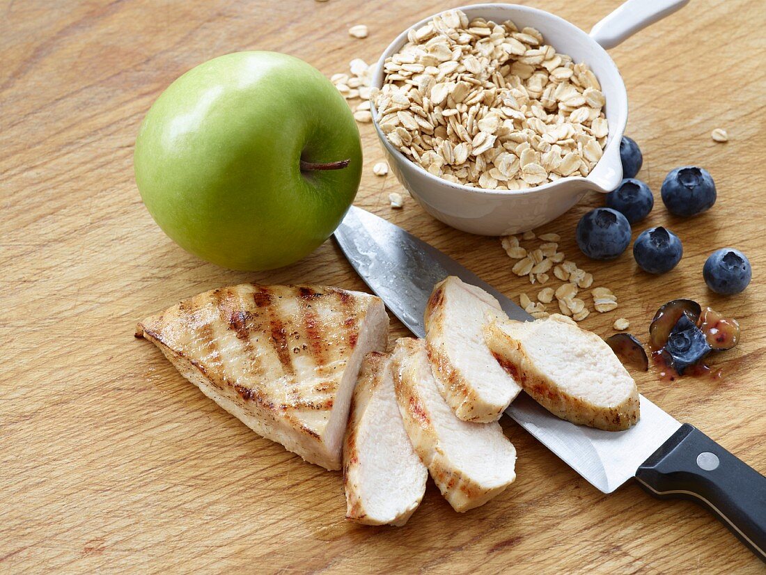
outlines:
M766 477L684 423L638 468L636 479L659 498L708 508L766 562Z

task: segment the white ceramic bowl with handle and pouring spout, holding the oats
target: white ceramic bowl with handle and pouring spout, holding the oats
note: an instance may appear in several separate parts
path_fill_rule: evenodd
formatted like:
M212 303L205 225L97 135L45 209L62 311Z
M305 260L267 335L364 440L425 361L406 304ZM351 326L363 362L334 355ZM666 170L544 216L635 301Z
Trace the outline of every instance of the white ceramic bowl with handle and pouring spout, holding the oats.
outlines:
M556 51L570 55L575 62L588 64L606 97L604 113L609 136L604 155L585 178L561 178L519 191L469 188L430 174L395 149L378 126L378 115L373 105L372 120L391 170L429 214L458 230L486 236L531 230L568 211L590 190L604 193L614 190L622 179L620 139L627 123L627 93L617 66L602 45L612 47L619 44L630 34L676 11L686 2L688 0L629 0L596 25L591 35L558 16L529 6L476 4L456 8L465 12L469 19L512 20L519 28L537 28L545 37L545 42L555 47ZM433 17L424 18L410 28L419 28ZM408 30L391 42L382 54L372 79L373 87L382 86L385 60L407 43Z

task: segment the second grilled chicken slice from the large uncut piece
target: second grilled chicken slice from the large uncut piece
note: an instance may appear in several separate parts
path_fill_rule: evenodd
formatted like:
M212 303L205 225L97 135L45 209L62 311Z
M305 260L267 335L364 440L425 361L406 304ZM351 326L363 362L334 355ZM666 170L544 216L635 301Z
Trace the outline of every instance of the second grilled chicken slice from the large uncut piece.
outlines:
M440 393L423 340L398 339L391 357L404 428L442 495L455 511L499 495L516 479L516 449L500 424L455 416Z

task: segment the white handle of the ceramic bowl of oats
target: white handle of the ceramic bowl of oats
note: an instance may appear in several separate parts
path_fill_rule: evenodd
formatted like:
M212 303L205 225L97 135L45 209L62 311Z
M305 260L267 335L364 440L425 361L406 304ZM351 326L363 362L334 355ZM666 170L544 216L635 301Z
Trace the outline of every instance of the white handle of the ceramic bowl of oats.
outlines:
M627 0L591 29L591 38L609 50L687 4L689 0Z

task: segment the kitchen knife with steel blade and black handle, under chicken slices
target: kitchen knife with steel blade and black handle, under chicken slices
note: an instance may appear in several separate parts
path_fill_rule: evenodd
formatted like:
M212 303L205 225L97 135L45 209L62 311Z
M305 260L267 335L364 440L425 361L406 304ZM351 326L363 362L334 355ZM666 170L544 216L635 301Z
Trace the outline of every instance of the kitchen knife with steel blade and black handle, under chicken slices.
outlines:
M349 210L335 237L365 283L419 338L428 296L447 276L491 293L509 318L533 319L455 260L361 208ZM558 419L523 393L506 413L602 492L635 477L656 497L692 499L766 562L766 478L646 397L638 423L617 432Z

